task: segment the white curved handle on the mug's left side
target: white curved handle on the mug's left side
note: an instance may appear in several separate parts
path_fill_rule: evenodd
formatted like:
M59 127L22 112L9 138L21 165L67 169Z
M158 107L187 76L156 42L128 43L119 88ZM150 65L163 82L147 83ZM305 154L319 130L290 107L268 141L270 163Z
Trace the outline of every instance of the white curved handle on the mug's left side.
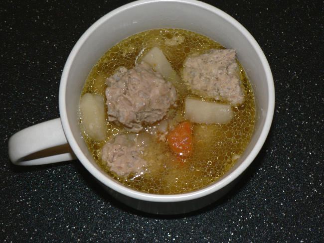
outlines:
M41 165L76 159L68 144L61 119L32 125L13 134L8 154L16 165Z

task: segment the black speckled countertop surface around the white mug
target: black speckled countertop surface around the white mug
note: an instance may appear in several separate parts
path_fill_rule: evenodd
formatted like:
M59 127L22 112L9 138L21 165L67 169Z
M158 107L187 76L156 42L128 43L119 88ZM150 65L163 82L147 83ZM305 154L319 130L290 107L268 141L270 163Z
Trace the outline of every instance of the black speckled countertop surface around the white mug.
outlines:
M146 215L113 200L78 161L10 163L14 132L59 117L60 75L75 42L125 2L1 1L0 242L323 242L323 1L206 1L256 38L276 87L263 149L209 207Z

